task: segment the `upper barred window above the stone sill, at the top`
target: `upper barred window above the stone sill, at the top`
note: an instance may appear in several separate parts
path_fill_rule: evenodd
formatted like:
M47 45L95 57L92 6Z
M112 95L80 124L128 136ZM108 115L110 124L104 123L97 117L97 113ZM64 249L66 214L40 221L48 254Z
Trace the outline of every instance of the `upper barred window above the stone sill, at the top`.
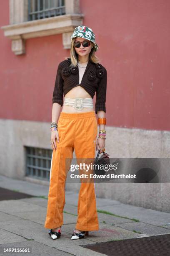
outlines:
M65 14L65 0L28 0L28 20Z

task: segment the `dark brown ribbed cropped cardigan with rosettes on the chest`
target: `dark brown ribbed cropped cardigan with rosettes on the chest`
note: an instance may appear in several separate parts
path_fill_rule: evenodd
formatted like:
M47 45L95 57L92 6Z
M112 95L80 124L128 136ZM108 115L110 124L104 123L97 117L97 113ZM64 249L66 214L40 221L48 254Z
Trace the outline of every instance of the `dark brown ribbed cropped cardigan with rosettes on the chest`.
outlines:
M89 59L81 83L79 84L78 67L70 68L70 64L71 59L67 58L58 65L52 104L57 102L62 106L63 95L65 96L73 87L80 85L90 94L92 99L96 91L95 113L97 114L97 111L100 110L106 113L107 71L105 67L99 63L95 64Z

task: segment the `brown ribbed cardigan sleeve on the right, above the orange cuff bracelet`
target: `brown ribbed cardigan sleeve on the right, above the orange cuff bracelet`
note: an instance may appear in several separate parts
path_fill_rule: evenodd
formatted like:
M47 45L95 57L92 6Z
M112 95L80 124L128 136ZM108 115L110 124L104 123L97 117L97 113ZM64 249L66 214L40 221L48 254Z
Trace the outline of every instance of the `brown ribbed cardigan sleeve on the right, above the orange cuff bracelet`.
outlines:
M104 69L104 75L100 79L99 85L96 90L96 102L95 102L95 113L97 111L103 110L106 113L106 88L107 88L107 70Z

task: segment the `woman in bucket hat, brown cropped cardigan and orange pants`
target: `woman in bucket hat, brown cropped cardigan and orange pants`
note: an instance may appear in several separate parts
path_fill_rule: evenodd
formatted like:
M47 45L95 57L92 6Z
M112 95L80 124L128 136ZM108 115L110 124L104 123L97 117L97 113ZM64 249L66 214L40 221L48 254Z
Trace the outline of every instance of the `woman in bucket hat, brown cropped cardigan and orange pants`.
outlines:
M70 58L57 68L52 98L52 161L45 228L52 239L61 236L65 205L65 159L95 158L95 150L105 151L105 100L107 71L95 56L98 46L91 28L78 26L71 36ZM93 96L96 91L95 111ZM63 102L64 95L64 102ZM62 111L60 113L60 108ZM60 117L58 119L60 113ZM96 120L95 113L98 118ZM58 120L58 122L57 122ZM100 125L97 138L97 123ZM77 223L71 239L84 238L99 230L94 183L81 183Z

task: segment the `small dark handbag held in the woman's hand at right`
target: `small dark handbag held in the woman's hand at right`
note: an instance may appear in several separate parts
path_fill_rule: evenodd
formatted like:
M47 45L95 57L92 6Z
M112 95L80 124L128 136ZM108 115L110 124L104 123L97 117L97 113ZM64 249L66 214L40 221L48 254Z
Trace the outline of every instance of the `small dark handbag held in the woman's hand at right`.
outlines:
M107 172L104 170L104 168L100 169L100 165L104 166L105 164L110 164L110 158L109 158L110 155L105 152L102 152L102 153L103 154L99 158L100 149L98 149L96 159L93 162L93 164L97 165L97 166L94 166L94 174L97 174L97 175L107 174Z

